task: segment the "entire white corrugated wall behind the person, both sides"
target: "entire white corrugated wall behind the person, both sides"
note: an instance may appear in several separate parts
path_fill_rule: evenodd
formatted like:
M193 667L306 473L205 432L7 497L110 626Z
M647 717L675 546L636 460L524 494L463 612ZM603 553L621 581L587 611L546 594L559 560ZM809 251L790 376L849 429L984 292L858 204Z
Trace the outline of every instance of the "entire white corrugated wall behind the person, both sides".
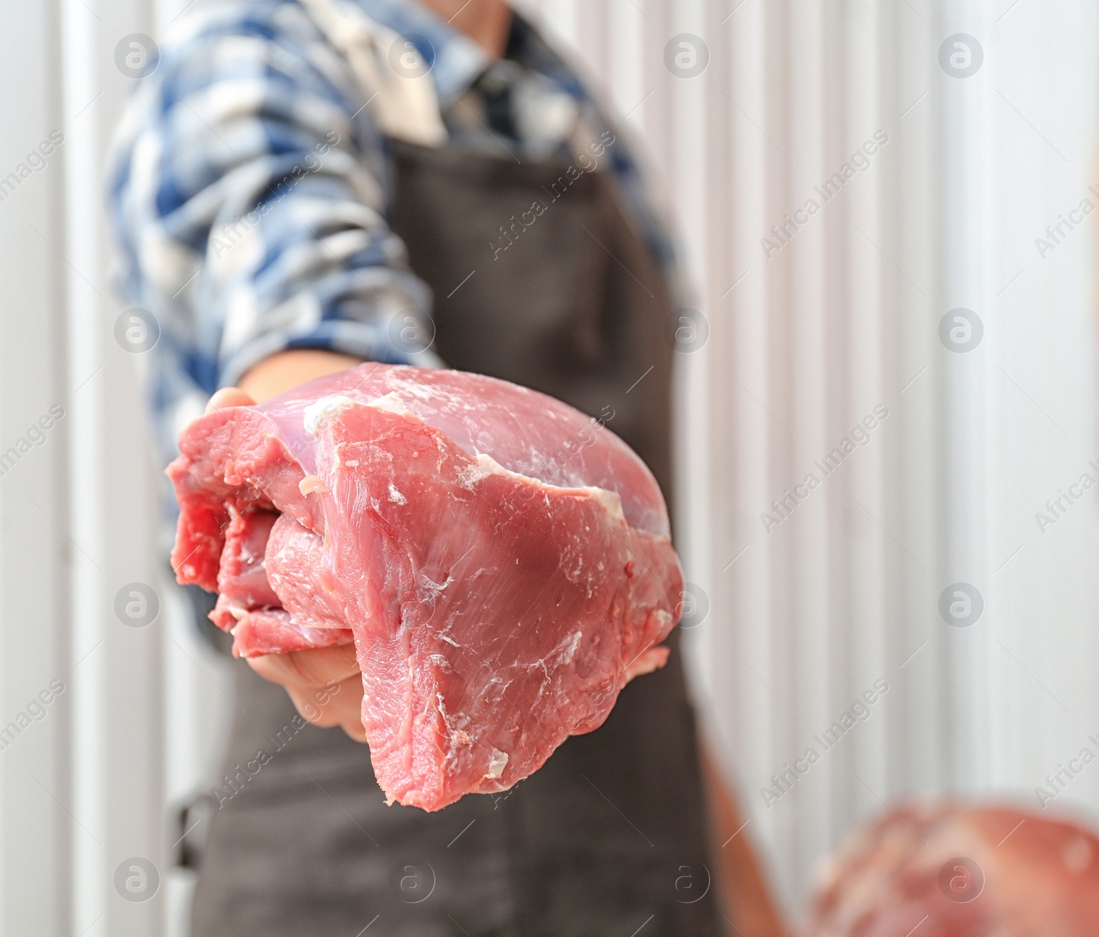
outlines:
M1035 520L1081 473L1099 479L1090 219L1035 245L1081 199L1099 205L1099 14L1084 0L529 2L666 182L710 325L678 372L678 545L710 603L686 645L784 899L799 908L813 862L886 801L1036 806L1099 732L1095 492ZM0 937L186 934L168 806L209 783L232 706L163 581L140 361L113 339L106 277L100 180L129 80L114 47L184 5L5 9L0 177L51 131L65 142L0 201L0 450L49 406L66 416L0 477L0 726L51 680L66 690L0 750ZM664 66L681 33L709 51L698 77ZM984 51L970 78L940 66L954 33ZM814 187L876 133L888 142L825 200ZM765 250L809 199L820 210ZM966 354L939 337L957 308L984 327ZM825 476L817 464L875 408L888 416ZM788 517L761 518L810 473ZM939 612L958 581L985 605L964 628ZM163 600L146 627L114 612L132 582ZM879 680L869 717L823 750L814 737ZM810 747L819 760L765 796ZM1051 806L1097 807L1099 771ZM134 856L164 879L144 904L113 884Z

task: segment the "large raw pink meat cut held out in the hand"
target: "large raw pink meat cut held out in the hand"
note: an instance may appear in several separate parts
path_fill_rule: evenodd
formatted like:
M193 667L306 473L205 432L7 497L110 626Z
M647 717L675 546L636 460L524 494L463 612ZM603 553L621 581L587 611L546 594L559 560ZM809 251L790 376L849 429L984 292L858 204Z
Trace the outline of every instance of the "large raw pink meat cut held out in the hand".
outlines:
M196 420L168 468L180 582L243 656L355 643L386 794L504 790L602 724L678 617L659 488L566 404L363 365Z

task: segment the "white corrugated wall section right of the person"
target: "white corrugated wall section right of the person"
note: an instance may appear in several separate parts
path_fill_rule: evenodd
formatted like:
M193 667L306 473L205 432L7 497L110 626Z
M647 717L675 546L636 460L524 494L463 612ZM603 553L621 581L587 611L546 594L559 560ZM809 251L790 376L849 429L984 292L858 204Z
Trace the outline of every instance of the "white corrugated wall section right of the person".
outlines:
M631 112L711 326L679 362L679 546L710 600L691 662L788 904L886 801L1037 806L1099 726L1095 497L1045 533L1034 517L1095 475L1091 226L1045 259L1034 238L1097 178L1096 11L536 5ZM697 78L664 67L679 33L709 48ZM940 66L954 33L984 51L969 78ZM825 201L813 187L879 131L870 166ZM761 238L810 198L820 211L768 258ZM958 306L984 325L965 354L939 338ZM815 462L879 405L869 443L825 477ZM819 487L765 524L810 472ZM985 602L964 628L939 613L958 581ZM889 691L825 751L814 736L877 680ZM810 747L820 760L765 796ZM1099 774L1055 806L1094 811Z

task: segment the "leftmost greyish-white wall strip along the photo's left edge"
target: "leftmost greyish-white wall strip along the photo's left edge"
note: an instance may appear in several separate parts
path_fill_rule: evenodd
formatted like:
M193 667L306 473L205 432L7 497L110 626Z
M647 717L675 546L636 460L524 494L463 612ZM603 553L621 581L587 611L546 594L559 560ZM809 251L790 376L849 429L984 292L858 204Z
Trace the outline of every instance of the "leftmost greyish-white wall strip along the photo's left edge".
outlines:
M66 639L68 566L78 548L68 536L65 483L73 417L51 415L52 408L68 405L66 267L58 250L65 244L60 179L67 153L64 141L56 148L51 142L53 133L58 143L63 130L58 10L16 2L2 10L0 935L21 937L60 934L73 912Z

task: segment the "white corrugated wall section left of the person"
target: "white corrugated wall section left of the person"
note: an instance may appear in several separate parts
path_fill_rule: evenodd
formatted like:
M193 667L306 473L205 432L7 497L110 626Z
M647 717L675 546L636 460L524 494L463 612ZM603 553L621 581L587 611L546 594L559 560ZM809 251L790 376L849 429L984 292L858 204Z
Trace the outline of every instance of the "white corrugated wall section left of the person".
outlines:
M143 361L114 338L103 215L131 85L115 46L158 18L143 0L5 12L0 176L62 142L0 202L0 449L52 406L64 416L0 477L0 727L51 681L64 690L0 750L0 935L184 934L168 805L204 782L231 703L166 582ZM116 613L135 582L160 605L143 627ZM115 885L134 857L160 879L145 902Z

